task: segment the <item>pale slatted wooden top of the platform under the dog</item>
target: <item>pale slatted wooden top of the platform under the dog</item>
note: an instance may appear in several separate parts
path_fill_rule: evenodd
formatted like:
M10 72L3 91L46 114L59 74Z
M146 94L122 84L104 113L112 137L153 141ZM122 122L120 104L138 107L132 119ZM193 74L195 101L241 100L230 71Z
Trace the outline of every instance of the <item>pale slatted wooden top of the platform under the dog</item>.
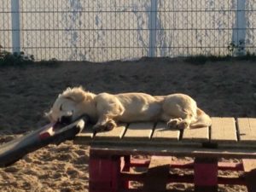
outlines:
M93 133L85 128L75 143L109 150L136 148L133 154L165 153L188 156L256 158L256 119L212 118L211 127L171 130L165 123L121 124L113 131ZM225 151L225 152L224 152Z

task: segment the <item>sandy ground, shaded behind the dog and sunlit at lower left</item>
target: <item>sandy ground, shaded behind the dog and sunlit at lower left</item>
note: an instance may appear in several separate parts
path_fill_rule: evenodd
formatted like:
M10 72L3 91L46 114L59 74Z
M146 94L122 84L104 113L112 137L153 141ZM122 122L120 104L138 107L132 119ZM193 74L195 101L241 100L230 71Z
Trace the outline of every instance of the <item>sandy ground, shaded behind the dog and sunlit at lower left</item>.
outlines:
M73 62L0 68L0 142L47 124L44 112L67 86L95 93L143 91L153 95L182 92L211 116L256 117L256 63L171 59ZM49 145L0 169L1 191L87 191L88 147L72 142ZM224 173L237 175L238 173ZM174 189L191 189L176 184ZM246 191L221 186L219 191Z

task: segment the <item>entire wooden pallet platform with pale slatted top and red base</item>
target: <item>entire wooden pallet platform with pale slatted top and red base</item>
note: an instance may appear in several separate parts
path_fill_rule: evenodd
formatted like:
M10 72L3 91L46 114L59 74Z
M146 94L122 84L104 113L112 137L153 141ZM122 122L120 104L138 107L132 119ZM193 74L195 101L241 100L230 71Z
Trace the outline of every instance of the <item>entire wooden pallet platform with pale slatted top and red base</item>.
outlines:
M195 191L217 191L219 183L247 185L256 191L256 119L212 118L211 127L171 130L165 123L121 124L113 131L93 133L85 128L75 143L90 144L90 192L160 191L166 183L194 183ZM148 172L131 174L131 155L148 154L144 163ZM195 161L186 165L170 162L172 156L190 156ZM159 158L160 157L160 158ZM166 157L166 158L165 158ZM221 165L219 158L241 158L237 165ZM194 169L189 177L173 177L168 167ZM245 172L244 177L218 177L218 170ZM155 178L155 179L154 179ZM130 189L129 181L143 181L143 189Z

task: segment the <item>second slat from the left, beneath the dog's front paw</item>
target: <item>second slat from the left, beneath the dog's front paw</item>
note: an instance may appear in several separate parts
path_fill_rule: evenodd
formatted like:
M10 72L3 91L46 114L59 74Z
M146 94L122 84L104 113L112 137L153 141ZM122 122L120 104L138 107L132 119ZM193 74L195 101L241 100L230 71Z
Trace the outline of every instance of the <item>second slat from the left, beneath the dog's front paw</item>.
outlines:
M102 132L97 132L95 139L100 140L113 140L115 139L116 141L119 141L121 137L123 137L125 133L127 124L119 124L117 127L113 128L112 131L102 131Z

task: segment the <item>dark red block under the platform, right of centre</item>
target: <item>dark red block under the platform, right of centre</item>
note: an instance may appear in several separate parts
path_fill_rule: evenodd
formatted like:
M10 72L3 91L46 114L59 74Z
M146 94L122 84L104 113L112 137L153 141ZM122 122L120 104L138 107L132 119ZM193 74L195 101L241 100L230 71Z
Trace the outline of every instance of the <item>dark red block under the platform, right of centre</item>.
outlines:
M196 158L195 170L195 191L196 192L217 192L218 191L218 160Z

